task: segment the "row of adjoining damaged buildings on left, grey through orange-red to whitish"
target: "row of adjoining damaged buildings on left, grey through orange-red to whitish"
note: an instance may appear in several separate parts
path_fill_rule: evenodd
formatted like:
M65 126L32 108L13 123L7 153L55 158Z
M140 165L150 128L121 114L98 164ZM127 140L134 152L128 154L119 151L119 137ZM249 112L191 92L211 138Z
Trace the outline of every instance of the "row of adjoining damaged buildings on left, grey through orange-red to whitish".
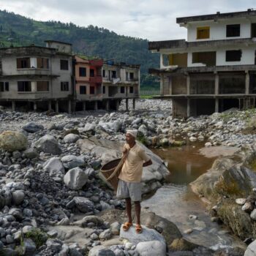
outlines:
M15 110L116 110L139 97L140 65L72 55L72 45L0 48L0 105Z

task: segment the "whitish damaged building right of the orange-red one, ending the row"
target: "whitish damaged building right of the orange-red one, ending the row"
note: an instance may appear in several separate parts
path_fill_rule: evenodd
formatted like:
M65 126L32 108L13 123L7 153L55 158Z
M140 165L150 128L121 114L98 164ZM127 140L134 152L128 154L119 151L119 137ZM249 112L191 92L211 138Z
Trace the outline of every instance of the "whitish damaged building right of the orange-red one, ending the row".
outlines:
M102 98L107 110L118 109L121 99L126 99L127 110L129 99L135 108L135 99L140 91L140 65L105 61L102 78Z

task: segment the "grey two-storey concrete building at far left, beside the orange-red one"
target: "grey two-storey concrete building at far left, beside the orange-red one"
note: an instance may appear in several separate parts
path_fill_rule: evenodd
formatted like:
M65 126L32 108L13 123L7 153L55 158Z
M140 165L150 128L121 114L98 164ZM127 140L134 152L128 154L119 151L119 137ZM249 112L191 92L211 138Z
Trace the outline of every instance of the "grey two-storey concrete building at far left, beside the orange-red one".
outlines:
M72 110L72 45L0 48L0 105L12 110Z

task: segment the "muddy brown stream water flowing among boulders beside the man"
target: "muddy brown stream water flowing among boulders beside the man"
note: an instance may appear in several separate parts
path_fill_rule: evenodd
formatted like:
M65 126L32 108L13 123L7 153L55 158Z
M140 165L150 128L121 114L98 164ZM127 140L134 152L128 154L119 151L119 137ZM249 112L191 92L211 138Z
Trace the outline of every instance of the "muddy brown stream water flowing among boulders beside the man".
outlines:
M238 238L230 234L224 225L211 222L206 213L206 205L189 187L191 181L206 173L217 157L204 157L199 153L202 143L193 143L182 148L153 149L167 162L171 176L167 184L142 202L161 217L175 223L187 240L196 244L217 249L226 246L245 246ZM195 215L196 220L189 219ZM192 233L185 231L192 229Z

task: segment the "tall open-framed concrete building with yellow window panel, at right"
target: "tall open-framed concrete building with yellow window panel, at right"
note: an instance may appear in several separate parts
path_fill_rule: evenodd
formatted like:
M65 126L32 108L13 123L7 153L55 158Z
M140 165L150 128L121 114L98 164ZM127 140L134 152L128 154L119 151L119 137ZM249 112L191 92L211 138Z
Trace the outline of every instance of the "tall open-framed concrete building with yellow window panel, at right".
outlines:
M173 116L253 108L256 97L256 11L177 18L185 39L148 42L160 53L159 98L172 99Z

